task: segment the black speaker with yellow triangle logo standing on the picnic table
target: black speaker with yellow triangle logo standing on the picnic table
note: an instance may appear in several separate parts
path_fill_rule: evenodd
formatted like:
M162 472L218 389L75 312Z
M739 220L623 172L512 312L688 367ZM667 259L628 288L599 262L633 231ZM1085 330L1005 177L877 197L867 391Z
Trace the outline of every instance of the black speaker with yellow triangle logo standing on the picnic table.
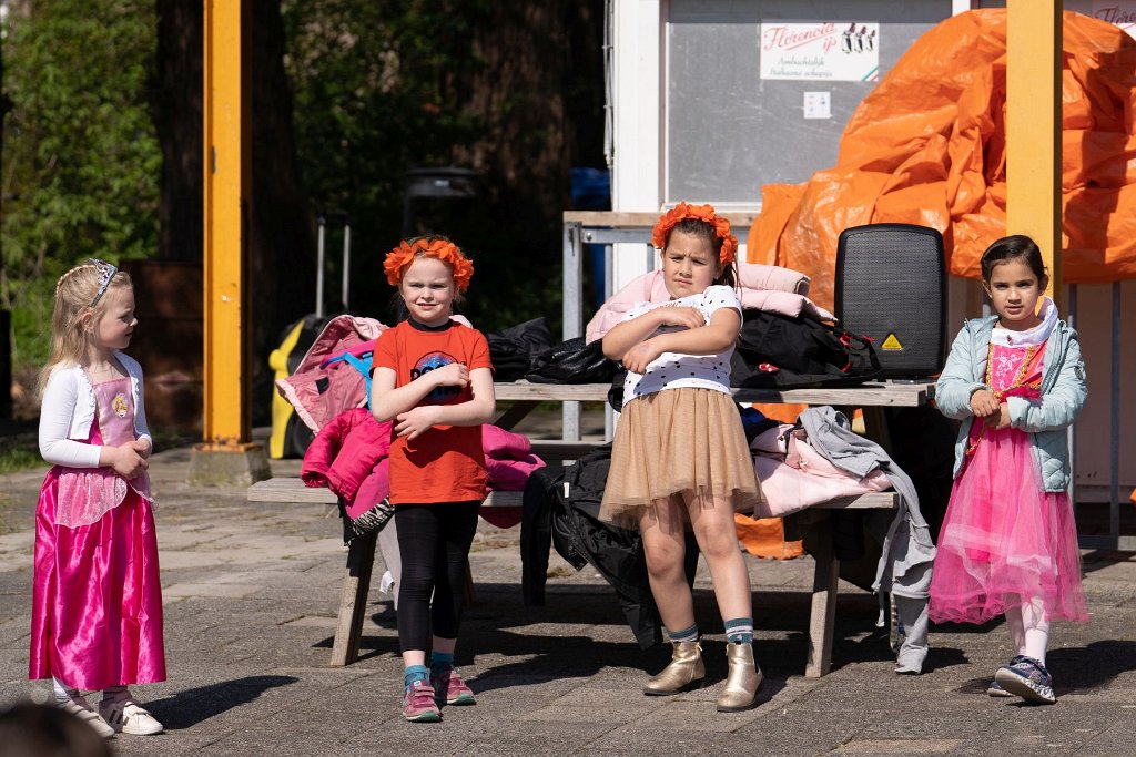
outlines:
M946 358L943 236L910 224L844 229L836 245L836 317L875 339L883 376L926 378Z

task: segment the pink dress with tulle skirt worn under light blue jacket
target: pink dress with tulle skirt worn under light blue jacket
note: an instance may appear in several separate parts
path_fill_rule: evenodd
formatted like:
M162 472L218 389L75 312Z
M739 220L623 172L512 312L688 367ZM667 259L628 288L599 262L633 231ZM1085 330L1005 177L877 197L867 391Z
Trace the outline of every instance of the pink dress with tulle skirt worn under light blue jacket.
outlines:
M1046 343L1002 342L991 343L986 386L999 402L1037 398ZM1035 598L1047 620L1088 620L1069 495L1043 490L1026 431L975 419L937 549L933 621L985 623Z

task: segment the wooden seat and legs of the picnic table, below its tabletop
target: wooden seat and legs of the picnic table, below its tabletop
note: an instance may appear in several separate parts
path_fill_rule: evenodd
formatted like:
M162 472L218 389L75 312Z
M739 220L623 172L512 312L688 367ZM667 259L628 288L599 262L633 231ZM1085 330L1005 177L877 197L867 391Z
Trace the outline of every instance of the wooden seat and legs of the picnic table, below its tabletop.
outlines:
M571 460L580 455L588 443L558 443L558 451L552 445L542 445L542 456L548 460ZM554 454L550 454L554 453ZM556 457L554 455L561 455ZM299 478L272 478L249 487L249 502L265 503L310 503L335 505L339 499L324 488L311 489ZM483 507L518 507L520 491L494 491L490 494ZM833 499L811 510L866 510L888 508L897 505L897 496L892 491L866 494L860 497ZM809 613L809 653L805 661L804 675L820 678L828 673L833 659L833 634L836 626L836 592L840 583L840 562L833 554L832 539L827 538L828 519L822 519L811 528L818 529L822 538L818 539L816 569L812 578L812 605ZM359 641L362 637L362 622L367 611L367 595L370 591L371 570L375 565L375 548L378 532L373 531L351 541L348 547L348 561L343 575L343 589L340 595L339 617L335 624L335 640L332 644L332 667L350 665L359 657Z

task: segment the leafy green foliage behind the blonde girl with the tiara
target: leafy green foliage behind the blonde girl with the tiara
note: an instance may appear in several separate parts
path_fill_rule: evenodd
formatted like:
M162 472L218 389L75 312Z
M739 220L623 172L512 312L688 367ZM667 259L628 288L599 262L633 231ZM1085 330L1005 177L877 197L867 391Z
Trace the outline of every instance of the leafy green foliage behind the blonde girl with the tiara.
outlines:
M3 304L17 368L47 356L56 279L150 258L161 152L147 104L152 0L33 0L5 26Z

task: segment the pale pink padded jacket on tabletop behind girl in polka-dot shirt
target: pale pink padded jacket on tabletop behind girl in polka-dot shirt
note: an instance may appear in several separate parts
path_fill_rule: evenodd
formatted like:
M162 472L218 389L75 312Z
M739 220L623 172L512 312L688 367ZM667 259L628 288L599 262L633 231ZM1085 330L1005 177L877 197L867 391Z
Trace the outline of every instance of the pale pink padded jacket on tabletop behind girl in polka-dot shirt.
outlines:
M805 296L809 293L809 277L804 274L779 266L741 262L737 264L737 272L742 308L745 310L769 310L783 316L835 320L830 312ZM670 293L667 292L661 270L636 277L603 303L587 322L584 337L587 342L602 339L604 334L623 320L632 305L638 302L667 302L669 298Z

